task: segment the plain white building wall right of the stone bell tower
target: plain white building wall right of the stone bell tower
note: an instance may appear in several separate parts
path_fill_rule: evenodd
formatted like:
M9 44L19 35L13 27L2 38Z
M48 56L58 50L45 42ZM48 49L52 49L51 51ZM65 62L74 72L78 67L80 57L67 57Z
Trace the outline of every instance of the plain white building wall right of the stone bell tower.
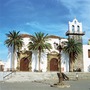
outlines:
M90 58L88 58L88 50L90 50L90 45L83 45L84 72L90 72Z

